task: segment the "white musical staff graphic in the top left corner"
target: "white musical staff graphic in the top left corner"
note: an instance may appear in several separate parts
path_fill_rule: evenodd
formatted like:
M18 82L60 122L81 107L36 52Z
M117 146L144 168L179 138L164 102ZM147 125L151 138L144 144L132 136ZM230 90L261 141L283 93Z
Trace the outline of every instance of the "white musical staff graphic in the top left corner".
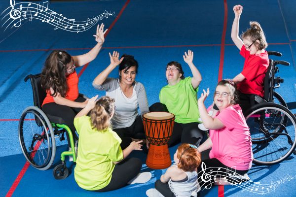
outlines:
M49 9L48 4L48 1L42 2L42 5L40 5L33 2L15 3L14 0L10 0L10 7L1 13L1 15L4 15L1 27L6 26L5 30L9 27L12 29L13 27L20 27L23 20L29 19L29 21L32 21L33 19L37 19L54 26L54 30L61 29L79 33L91 29L97 22L104 18L115 16L114 12L111 13L105 10L104 13L91 19L87 18L86 21L75 21L75 19L68 19L62 13L58 14Z

